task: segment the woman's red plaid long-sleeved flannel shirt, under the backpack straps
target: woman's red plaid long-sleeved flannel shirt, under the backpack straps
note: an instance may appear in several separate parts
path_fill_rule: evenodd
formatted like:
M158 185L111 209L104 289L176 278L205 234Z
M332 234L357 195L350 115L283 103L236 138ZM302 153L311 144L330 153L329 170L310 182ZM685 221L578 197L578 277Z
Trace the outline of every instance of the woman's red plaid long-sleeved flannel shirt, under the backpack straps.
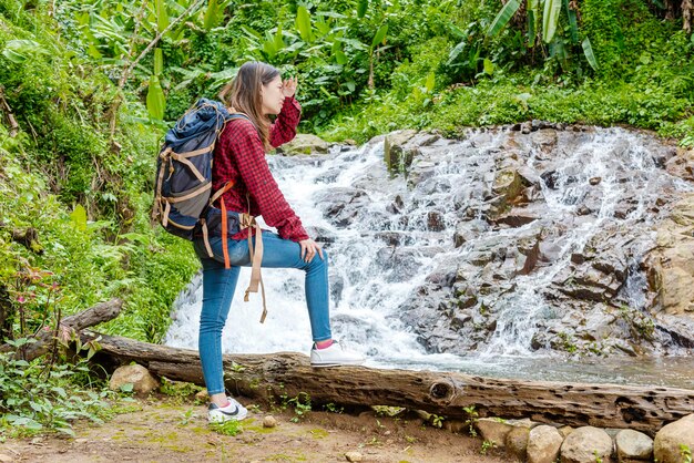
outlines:
M302 115L302 106L293 97L285 97L280 113L269 130L271 145L277 147L296 135L296 126ZM246 193L251 193L251 215L263 216L271 227L285 239L300 241L308 239L302 220L287 204L273 178L265 161L265 150L258 132L251 121L235 119L226 124L214 150L212 191L233 182L234 187L222 198L228 210L248 210ZM232 239L245 239L248 230L242 230Z

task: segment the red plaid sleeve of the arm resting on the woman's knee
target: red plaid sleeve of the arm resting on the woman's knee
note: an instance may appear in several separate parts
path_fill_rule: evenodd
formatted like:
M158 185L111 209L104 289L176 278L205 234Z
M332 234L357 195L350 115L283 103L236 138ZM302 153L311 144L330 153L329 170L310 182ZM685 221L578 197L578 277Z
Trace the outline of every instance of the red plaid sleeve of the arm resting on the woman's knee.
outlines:
M308 234L302 225L302 220L294 213L279 186L273 178L263 142L251 122L237 123L238 136L231 142L231 151L236 155L238 173L263 219L271 227L277 228L277 233L284 239L300 241L308 239Z

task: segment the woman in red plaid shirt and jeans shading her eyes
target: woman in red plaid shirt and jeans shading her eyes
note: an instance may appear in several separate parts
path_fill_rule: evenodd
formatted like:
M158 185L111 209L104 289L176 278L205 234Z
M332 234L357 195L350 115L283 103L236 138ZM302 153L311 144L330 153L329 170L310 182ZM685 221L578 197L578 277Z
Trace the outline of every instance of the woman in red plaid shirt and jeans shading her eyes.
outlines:
M198 346L211 401L210 421L243 420L247 413L241 403L226 397L222 369L222 329L239 268L251 266L252 261L246 241L249 229L234 227L239 213L249 209L252 216L262 215L267 225L277 228L277 234L262 234L263 267L297 268L306 272L306 302L314 340L312 366L364 362L360 354L343 349L333 340L328 313L328 255L308 237L265 161L267 151L289 142L296 135L300 116L300 105L294 99L296 83L296 79L283 82L279 71L268 64L247 62L221 93L232 112L242 113L247 119L238 117L227 122L214 152L212 191L233 185L220 198L225 209L231 212L226 234L228 238L213 234L210 238L213 258L202 239L194 241L203 265ZM269 114L277 115L274 124L268 119ZM255 243L255 239L254 236L252 240ZM224 264L225 257L227 266Z

